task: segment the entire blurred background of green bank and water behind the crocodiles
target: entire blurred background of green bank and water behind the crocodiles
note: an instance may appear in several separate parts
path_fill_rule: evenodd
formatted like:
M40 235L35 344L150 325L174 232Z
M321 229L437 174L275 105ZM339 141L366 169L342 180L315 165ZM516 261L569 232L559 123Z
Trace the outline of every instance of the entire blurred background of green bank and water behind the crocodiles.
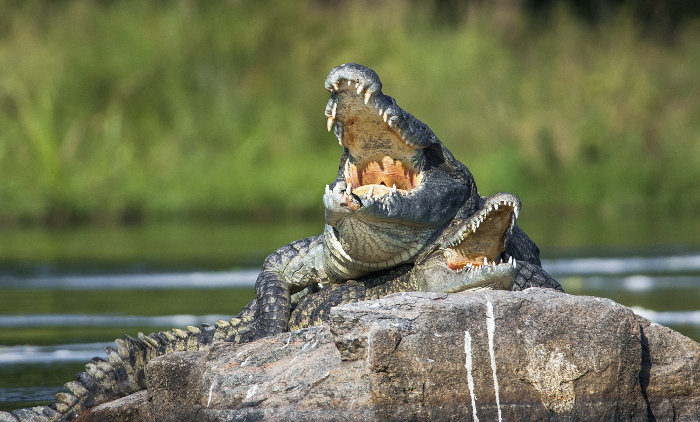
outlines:
M521 198L568 292L700 339L698 45L693 1L0 0L0 409L321 232L346 62Z

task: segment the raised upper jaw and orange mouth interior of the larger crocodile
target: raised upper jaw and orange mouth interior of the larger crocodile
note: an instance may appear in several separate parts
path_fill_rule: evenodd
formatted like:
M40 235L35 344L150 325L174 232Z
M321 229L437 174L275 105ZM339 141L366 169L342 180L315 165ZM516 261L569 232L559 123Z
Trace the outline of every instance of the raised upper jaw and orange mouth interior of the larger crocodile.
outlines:
M377 74L345 64L331 70L326 89L328 130L348 150L341 167L346 194L381 199L408 195L423 182L423 149L437 138L423 123L384 95Z

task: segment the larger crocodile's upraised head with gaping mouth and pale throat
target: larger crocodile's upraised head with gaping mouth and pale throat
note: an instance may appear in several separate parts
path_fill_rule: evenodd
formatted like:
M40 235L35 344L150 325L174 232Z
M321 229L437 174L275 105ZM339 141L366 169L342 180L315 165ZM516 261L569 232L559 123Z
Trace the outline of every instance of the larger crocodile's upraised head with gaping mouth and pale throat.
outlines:
M338 177L324 195L330 272L347 279L412 262L476 195L471 174L382 92L372 69L335 67L325 87L328 130L335 126L343 147Z

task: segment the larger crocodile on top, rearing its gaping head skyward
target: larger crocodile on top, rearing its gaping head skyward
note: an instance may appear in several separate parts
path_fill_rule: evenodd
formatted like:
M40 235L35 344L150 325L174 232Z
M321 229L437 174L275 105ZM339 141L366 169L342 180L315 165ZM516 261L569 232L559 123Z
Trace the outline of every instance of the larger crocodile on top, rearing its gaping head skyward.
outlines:
M256 280L254 335L285 331L291 295L412 264L457 216L483 205L469 169L423 122L382 92L372 69L347 63L329 72L327 128L342 155L326 185L323 233L285 245ZM519 228L506 248L540 267L539 249Z

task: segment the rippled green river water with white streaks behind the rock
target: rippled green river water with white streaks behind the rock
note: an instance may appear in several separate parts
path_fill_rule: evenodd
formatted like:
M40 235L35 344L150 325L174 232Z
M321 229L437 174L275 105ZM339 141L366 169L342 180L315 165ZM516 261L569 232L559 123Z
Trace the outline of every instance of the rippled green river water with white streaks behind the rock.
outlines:
M217 229L204 236L206 247L193 253L181 252L193 243L180 241L172 233L161 241L159 232L159 240L151 240L152 249L140 246L139 259L122 255L144 240L141 235L130 238L128 233L106 236L111 241L121 239L123 249L111 244L99 251L85 234L75 243L70 237L66 242L65 233L44 237L40 240L46 249L38 258L22 248L3 251L0 246L0 257L5 259L0 262L0 409L50 401L90 358L105 357L104 347L124 334L229 318L253 297L256 266L269 251L319 231L306 225L287 225L286 232L254 228L250 233L269 232L267 243L253 241L250 248L241 248L241 243L251 244L241 235L247 230ZM194 232L201 234L201 230ZM21 236L9 239L23 244ZM46 247L52 242L55 249ZM170 255L164 259L160 254L168 248ZM597 250L608 253L567 256L567 249L560 247L559 256L543 260L543 266L568 293L611 298L700 340L697 248L664 247L665 253L647 251L635 256L611 254L610 248ZM83 262L73 255L88 258Z

